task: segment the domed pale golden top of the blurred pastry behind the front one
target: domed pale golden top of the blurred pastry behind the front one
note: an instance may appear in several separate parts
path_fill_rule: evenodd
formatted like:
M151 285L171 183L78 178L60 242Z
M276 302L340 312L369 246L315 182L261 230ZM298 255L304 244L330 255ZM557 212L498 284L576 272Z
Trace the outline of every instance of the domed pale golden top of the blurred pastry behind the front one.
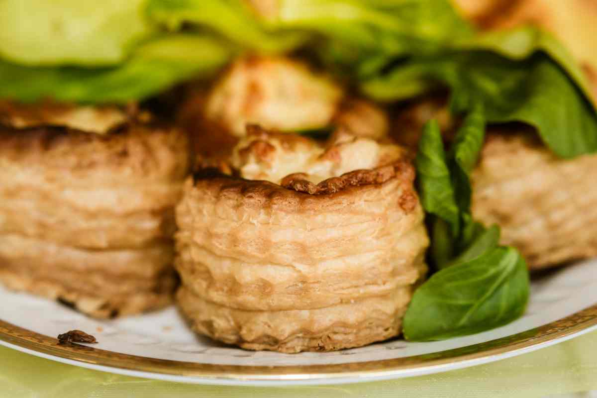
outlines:
M205 116L238 137L259 123L281 131L319 128L336 113L343 91L326 75L284 57L236 60L211 90Z

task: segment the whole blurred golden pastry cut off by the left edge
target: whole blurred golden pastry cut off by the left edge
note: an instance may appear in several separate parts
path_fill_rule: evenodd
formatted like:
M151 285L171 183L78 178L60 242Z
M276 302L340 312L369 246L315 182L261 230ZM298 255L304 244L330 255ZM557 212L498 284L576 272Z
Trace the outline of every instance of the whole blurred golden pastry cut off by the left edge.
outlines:
M97 317L164 306L189 165L186 135L139 121L0 126L0 280Z

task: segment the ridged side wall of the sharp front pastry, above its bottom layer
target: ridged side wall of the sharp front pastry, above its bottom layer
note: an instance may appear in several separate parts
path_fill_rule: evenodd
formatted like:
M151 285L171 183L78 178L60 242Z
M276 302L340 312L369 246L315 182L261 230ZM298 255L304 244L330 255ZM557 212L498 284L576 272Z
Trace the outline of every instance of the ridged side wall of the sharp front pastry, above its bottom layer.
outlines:
M321 308L416 282L427 234L394 178L333 195L265 181L187 181L176 267L188 289L252 310ZM416 200L416 197L415 197Z

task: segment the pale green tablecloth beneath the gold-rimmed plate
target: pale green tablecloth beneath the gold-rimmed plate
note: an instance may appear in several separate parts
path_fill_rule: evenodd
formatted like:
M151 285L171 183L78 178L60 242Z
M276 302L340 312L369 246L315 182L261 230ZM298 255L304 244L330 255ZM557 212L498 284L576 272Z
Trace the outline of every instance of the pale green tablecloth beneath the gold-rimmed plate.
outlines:
M0 397L543 397L597 389L597 332L474 368L314 387L219 387L91 371L0 347Z

